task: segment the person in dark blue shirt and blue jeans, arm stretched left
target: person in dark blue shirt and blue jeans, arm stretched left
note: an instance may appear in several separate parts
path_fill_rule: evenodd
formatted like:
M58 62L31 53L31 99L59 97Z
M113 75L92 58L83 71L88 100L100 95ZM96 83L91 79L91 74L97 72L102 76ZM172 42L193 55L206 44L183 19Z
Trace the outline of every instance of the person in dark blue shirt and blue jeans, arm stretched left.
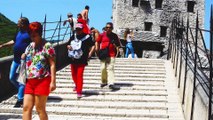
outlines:
M21 64L21 55L24 53L26 47L31 43L30 36L28 34L29 20L26 17L21 17L17 24L19 32L16 34L14 40L10 40L0 45L0 49L7 46L13 46L14 58L10 67L10 82L18 89L17 101L14 107L21 107L23 105L24 98L24 85L17 82L18 73L16 72Z

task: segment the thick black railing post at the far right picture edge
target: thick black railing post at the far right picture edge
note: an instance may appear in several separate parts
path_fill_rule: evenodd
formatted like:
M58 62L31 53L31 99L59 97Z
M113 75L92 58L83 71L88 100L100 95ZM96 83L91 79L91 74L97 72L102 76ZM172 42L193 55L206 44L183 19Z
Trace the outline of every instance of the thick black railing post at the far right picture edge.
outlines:
M213 55L213 8L211 6L211 17L210 17L210 76L209 76L209 116L208 120L211 120L212 114L212 55Z

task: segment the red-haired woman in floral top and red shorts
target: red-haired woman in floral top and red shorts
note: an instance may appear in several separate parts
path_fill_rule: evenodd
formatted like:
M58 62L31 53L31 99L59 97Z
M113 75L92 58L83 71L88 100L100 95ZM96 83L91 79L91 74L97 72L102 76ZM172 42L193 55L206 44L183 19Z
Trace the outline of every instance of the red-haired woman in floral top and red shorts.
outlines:
M33 42L22 55L22 59L26 60L27 71L23 120L32 119L34 105L40 120L48 120L47 97L51 91L56 89L55 51L50 43L42 39L41 23L30 23L29 34Z

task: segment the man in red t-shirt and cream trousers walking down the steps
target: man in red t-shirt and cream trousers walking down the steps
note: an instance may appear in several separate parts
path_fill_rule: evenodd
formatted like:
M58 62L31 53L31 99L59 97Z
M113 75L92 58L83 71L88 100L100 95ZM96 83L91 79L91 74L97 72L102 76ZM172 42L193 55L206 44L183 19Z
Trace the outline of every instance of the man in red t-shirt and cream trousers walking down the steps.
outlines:
M112 32L113 24L108 22L105 27L105 32L99 35L96 40L96 51L98 53L99 49L104 49L109 47L109 57L105 60L101 60L101 87L107 86L112 90L119 89L114 85L115 74L114 65L115 57L118 54L118 49L120 47L120 40L118 36Z

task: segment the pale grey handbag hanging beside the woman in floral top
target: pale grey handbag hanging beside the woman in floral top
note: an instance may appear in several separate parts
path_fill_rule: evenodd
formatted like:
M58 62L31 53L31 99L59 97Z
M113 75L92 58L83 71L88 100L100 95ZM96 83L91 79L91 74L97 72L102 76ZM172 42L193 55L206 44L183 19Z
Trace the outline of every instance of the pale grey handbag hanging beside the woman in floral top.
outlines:
M26 79L27 79L27 74L26 74L27 71L26 71L26 62L24 60L21 60L21 64L19 65L16 72L18 73L17 82L25 85Z

